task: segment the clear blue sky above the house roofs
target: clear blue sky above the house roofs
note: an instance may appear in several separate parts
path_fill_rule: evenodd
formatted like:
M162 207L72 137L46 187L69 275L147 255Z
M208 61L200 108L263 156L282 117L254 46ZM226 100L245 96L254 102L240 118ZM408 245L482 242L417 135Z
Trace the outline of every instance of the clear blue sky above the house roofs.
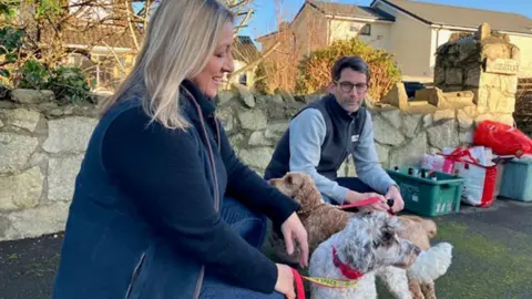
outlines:
M283 2L282 16L284 20L291 21L305 0L280 0L279 2ZM336 0L332 2L369 6L371 0ZM421 0L421 2L514 12L532 19L532 0ZM249 23L249 28L241 30L241 34L256 39L275 31L277 21L274 3L275 0L256 0L253 4L255 16Z

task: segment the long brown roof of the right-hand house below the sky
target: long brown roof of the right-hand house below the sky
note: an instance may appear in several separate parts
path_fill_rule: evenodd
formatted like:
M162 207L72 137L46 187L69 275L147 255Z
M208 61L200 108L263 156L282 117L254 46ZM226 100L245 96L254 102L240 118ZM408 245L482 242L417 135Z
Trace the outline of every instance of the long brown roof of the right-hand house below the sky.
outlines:
M532 34L532 20L518 13L452 7L408 0L375 0L387 3L427 24L478 28L483 22L499 31Z

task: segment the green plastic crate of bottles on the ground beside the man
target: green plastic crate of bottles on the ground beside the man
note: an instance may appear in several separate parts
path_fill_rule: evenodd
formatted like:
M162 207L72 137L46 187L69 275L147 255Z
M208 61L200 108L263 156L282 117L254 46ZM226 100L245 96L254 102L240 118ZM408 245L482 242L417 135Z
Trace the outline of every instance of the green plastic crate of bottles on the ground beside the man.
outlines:
M464 179L450 174L434 172L437 181L412 176L409 167L398 171L386 169L396 181L405 200L405 209L421 216L440 216L460 210L462 186ZM421 173L422 168L412 167Z

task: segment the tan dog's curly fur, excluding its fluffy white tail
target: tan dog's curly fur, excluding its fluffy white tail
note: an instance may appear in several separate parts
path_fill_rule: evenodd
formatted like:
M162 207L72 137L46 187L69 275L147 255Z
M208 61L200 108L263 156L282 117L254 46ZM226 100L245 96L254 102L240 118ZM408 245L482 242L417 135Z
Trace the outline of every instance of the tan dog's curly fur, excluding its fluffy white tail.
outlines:
M344 229L352 213L341 210L336 206L324 203L321 195L314 181L305 173L291 172L280 178L272 178L269 184L278 188L282 193L299 202L301 209L298 216L307 229L309 250L315 248L334 234ZM398 231L399 237L412 241L422 250L429 250L430 239L437 234L437 226L432 220L423 219L418 216L399 216L402 229ZM298 250L289 256L284 248L284 240L277 234L270 235L270 244L276 248L277 256L288 264L297 264ZM447 268L446 268L447 270ZM409 278L408 286L402 286L400 281L406 276L405 270L389 267L378 274L385 281L388 289L396 297L405 297L401 293L408 288L413 299L436 298L434 283L431 280L419 281ZM399 283L398 283L399 282Z

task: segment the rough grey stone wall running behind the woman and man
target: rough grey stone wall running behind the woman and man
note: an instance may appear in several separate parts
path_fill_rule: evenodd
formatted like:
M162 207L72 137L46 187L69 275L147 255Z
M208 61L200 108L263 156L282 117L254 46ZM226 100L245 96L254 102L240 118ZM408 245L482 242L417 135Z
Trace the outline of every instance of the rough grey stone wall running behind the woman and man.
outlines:
M266 167L288 120L319 95L279 92L254 95L245 89L216 99L237 155L257 173ZM58 106L47 92L13 91L0 100L0 240L35 237L64 227L74 179L98 123L94 105ZM419 164L424 153L471 141L477 107L400 111L374 107L375 142L385 167ZM356 175L350 158L340 176Z

